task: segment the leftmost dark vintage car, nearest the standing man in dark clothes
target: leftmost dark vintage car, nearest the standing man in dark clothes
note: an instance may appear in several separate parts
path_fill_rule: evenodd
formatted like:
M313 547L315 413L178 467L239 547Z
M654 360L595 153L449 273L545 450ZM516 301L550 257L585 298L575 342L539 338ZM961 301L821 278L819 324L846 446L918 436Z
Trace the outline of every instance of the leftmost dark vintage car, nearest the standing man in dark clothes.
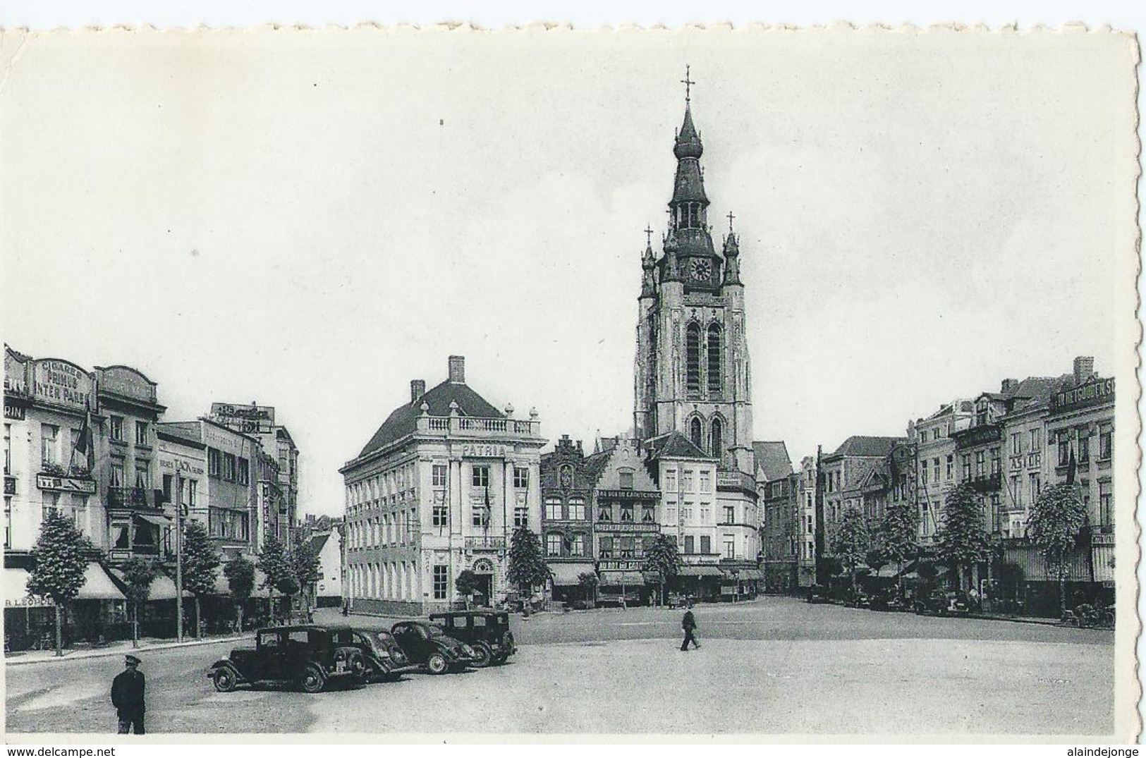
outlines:
M295 685L322 692L335 680L361 682L386 668L354 639L348 626L273 626L254 634L254 647L235 648L215 661L207 674L215 689L238 685Z

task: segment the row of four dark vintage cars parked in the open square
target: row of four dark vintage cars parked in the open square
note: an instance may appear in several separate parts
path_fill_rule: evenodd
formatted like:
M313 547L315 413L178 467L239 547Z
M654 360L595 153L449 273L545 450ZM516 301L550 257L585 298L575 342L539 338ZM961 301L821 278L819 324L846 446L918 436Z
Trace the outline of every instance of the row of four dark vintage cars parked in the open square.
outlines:
M517 648L509 614L433 614L401 621L390 631L300 624L260 629L254 647L235 648L211 666L215 689L241 685L296 686L317 693L333 682L363 684L402 673L442 674L504 663Z

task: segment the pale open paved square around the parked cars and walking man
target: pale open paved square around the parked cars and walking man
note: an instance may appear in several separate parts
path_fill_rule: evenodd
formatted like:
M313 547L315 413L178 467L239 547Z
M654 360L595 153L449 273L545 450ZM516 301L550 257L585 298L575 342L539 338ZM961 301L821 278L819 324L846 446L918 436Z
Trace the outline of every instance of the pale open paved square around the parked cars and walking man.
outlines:
M319 695L219 694L231 643L141 654L162 732L1106 734L1114 637L764 598L699 606L681 653L667 609L515 617L510 663ZM321 621L379 627L336 613ZM10 732L113 732L118 656L7 666Z

